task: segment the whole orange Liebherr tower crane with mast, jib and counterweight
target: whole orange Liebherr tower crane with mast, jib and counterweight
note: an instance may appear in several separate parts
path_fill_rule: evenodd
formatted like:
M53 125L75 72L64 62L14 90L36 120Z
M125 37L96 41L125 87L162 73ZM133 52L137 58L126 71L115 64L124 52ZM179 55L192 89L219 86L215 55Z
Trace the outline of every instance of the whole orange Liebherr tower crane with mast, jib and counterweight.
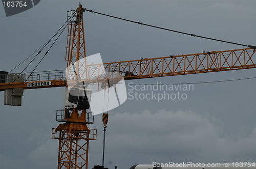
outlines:
M83 29L84 11L85 9L79 5L77 10L69 11L68 15L67 66L78 64L74 71L67 72L74 77L72 80L67 80L65 70L20 75L0 72L0 91L5 91L6 105L21 105L24 90L66 87L66 100L74 102L72 106L57 110L59 117L57 121L64 123L59 124L52 131L52 138L59 140L59 169L88 168L89 140L96 139L97 130L88 127L93 122L90 121L91 113L87 111L90 104L90 90L86 89L87 85L100 83L101 88L105 89L117 84L121 77L124 80L132 80L256 68L255 48L170 55L104 64L80 63L80 59L87 57ZM79 73L79 66L83 66L86 73ZM92 66L104 71L90 71ZM69 85L73 85L73 88L68 88ZM72 92L78 95L73 95Z

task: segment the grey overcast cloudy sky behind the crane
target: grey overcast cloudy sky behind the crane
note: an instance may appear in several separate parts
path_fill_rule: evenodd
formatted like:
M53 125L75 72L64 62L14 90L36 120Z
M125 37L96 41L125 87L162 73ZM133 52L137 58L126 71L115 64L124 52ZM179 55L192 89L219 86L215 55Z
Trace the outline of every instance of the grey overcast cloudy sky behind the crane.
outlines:
M256 1L80 1L84 8L143 23L226 41L256 45ZM0 70L10 71L46 43L79 1L41 1L6 17L0 5ZM87 55L100 53L104 63L244 48L134 23L84 13ZM36 71L66 69L67 31ZM40 58L39 58L40 59ZM39 60L38 59L38 60ZM30 72L38 60L26 69ZM255 60L254 60L255 61ZM22 71L28 62L11 73ZM126 81L191 83L255 77L255 70L203 73ZM110 110L105 166L168 162L256 162L255 79L195 84L179 91L186 99L128 99ZM127 92L136 92L126 85ZM138 86L141 87L141 86ZM147 94L151 91L137 91ZM155 91L163 93L164 91ZM176 94L177 91L166 91ZM130 93L135 96L134 93ZM64 88L25 90L22 106L4 105L0 93L0 167L57 168L56 109L64 108ZM101 164L103 125L90 141L89 168Z

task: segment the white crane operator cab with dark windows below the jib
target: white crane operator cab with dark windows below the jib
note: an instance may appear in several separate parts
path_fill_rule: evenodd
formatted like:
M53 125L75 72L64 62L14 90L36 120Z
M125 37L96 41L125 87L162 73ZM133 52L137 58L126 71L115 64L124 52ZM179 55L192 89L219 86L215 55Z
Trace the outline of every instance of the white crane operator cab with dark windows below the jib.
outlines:
M85 88L66 88L65 89L65 108L89 109L92 90Z

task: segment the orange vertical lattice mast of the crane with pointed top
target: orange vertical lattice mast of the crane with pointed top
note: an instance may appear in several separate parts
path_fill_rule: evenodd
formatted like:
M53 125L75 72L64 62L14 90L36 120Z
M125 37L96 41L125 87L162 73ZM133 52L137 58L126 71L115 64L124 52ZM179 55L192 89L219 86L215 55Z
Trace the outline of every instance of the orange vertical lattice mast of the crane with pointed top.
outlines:
M68 61L68 67L76 63L74 66L76 70L69 71L69 69L67 69L66 73L67 77L70 75L75 78L75 81L80 80L79 67L85 66L79 63L81 58L86 57L82 18L83 12L84 9L79 5L77 10L69 11L70 15L68 15L69 30L66 60ZM72 72L75 73L72 74ZM67 93L69 93L68 83L66 83L66 95ZM53 128L52 130L52 138L59 140L58 169L88 168L89 140L96 139L97 130L88 128L87 125L93 122L89 121L90 113L86 111L86 108L77 106L57 110L57 121L65 122L59 124L57 128ZM79 113L79 111L81 111L81 113Z

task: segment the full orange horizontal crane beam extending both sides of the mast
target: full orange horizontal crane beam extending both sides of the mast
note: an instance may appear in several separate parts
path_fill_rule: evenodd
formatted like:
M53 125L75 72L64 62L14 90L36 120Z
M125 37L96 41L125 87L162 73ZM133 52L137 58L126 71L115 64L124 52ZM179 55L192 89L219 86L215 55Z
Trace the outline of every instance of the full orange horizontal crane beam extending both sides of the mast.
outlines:
M96 82L117 83L122 75L125 80L131 80L251 68L256 68L255 49L245 48L176 55L153 59L145 58L140 60L112 62L105 64L88 64L86 66L87 73L79 73L81 75L87 74L87 76L81 76L81 80L84 81L85 84L89 84ZM99 72L101 73L99 74ZM0 91L13 88L55 88L65 87L67 85L66 79L56 79L49 81L51 81L51 85L49 86L30 87L28 86L28 83L31 83L31 81L25 83L0 83Z

